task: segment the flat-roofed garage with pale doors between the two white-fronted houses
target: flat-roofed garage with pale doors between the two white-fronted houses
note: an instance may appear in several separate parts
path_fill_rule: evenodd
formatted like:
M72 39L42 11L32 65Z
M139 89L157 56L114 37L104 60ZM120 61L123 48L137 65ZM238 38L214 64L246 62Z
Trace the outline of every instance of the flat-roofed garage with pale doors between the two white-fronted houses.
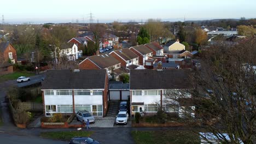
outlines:
M129 83L109 82L109 100L128 100L129 97Z

